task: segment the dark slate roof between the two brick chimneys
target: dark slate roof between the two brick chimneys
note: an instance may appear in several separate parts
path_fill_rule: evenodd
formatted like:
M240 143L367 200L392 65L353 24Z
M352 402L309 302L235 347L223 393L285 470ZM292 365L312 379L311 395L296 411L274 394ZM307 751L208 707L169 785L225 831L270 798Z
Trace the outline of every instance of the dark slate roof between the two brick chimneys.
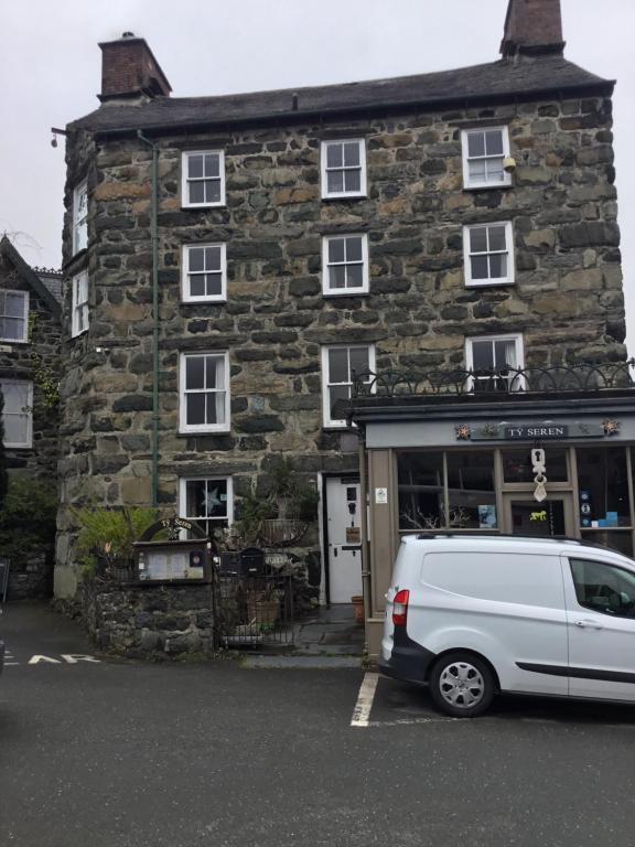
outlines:
M287 88L223 97L160 97L139 105L108 103L68 129L130 132L238 121L267 121L316 114L352 114L403 106L433 107L452 101L531 96L546 92L612 88L613 83L568 62L560 54L519 61L498 60L456 71L311 88ZM293 109L293 95L298 95Z

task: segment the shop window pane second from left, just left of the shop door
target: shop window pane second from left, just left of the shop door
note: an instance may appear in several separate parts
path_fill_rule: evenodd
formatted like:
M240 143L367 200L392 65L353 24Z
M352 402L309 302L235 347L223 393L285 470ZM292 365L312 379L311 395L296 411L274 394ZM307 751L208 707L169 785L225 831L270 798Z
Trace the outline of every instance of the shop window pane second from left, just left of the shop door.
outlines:
M494 452L448 453L448 526L497 529Z

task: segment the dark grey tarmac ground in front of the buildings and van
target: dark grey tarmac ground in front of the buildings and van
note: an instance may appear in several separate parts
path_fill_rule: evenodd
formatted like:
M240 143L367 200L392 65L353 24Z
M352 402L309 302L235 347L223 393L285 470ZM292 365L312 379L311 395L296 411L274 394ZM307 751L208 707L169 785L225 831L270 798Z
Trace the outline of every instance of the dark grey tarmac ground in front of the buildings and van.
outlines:
M42 609L0 626L2 847L635 844L633 708L455 721L358 669L92 662Z

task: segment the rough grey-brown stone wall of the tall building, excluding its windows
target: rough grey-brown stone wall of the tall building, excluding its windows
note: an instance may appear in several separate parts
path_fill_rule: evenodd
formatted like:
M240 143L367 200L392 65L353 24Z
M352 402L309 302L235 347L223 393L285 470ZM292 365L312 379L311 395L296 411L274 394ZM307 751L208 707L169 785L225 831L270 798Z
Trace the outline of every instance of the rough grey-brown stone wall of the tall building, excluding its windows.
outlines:
M464 191L460 130L508 122L513 185ZM367 141L368 196L320 199L320 140ZM90 330L66 342L58 565L72 592L68 505L150 497L150 152L136 139L69 139L88 173ZM160 498L181 475L232 474L238 497L270 485L273 454L299 472L354 470L322 428L320 349L374 342L377 368L462 366L465 337L521 332L529 366L625 356L611 103L548 100L163 137L160 144ZM227 205L181 208L181 150L225 150ZM516 285L466 289L462 226L512 221ZM370 293L327 299L321 237L367 233ZM227 243L228 301L181 302L183 244ZM68 266L72 272L75 259ZM68 304L66 305L68 324ZM105 346L106 354L97 354ZM232 431L177 433L182 351L229 351ZM308 540L315 547L316 537ZM62 582L60 583L62 586Z

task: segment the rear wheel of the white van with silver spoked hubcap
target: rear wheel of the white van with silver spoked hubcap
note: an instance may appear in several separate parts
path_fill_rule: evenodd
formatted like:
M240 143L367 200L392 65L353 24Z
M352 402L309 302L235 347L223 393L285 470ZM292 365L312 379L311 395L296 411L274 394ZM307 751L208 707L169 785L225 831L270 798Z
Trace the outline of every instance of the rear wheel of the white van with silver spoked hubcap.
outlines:
M453 718L482 715L494 697L494 676L482 658L471 653L442 656L430 675L434 705Z

